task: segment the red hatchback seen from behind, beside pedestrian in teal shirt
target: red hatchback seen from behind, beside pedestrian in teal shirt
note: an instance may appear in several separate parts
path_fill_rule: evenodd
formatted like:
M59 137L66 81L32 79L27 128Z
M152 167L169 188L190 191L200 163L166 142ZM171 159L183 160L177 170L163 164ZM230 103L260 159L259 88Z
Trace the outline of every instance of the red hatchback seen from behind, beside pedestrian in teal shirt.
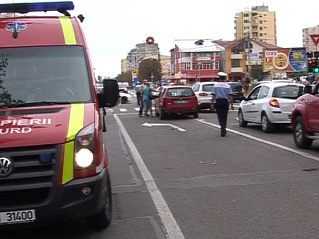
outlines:
M161 120L170 114L191 114L198 118L197 98L189 86L163 88L157 99L155 114Z

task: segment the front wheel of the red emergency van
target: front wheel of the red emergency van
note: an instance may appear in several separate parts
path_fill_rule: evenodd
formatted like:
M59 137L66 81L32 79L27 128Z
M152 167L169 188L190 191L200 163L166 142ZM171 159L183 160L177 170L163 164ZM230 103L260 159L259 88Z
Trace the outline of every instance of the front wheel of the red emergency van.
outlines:
M107 180L107 187L104 193L105 207L98 214L87 219L87 222L93 227L107 228L112 220L112 187L109 174Z

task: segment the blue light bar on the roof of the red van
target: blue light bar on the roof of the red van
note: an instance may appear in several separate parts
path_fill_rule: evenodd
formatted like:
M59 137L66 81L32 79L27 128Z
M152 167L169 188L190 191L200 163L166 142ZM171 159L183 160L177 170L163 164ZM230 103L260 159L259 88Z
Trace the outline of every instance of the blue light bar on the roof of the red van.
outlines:
M0 4L0 13L28 13L39 11L58 11L69 15L68 10L74 10L73 2L41 2Z

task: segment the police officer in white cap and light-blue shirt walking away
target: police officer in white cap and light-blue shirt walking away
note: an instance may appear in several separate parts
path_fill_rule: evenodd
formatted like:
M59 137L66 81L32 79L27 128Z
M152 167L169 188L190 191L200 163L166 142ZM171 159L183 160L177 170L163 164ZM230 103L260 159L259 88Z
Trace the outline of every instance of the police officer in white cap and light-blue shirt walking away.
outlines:
M220 135L225 137L226 135L226 125L227 125L227 115L229 109L229 101L231 109L234 110L233 105L233 91L229 84L227 84L225 72L219 72L219 82L215 83L211 90L211 109L214 110L214 102L216 100L216 113L220 125Z

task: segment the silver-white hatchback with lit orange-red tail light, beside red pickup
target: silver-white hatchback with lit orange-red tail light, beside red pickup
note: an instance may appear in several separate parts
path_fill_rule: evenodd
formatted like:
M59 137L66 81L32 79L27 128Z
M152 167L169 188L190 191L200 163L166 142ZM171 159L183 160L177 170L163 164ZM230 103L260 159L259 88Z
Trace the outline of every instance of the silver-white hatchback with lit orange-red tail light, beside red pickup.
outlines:
M265 133L272 132L274 124L290 125L293 104L303 93L303 84L259 84L241 101L238 110L239 125L246 127L248 122L261 124Z

